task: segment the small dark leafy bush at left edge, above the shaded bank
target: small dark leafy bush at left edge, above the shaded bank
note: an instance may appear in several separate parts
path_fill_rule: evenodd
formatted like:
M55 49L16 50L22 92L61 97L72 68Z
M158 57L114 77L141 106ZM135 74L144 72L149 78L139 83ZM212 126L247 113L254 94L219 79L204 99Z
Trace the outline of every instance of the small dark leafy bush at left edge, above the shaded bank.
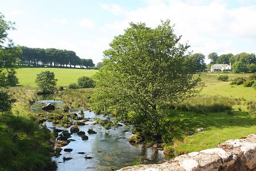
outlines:
M0 112L10 111L16 101L6 91L0 90Z

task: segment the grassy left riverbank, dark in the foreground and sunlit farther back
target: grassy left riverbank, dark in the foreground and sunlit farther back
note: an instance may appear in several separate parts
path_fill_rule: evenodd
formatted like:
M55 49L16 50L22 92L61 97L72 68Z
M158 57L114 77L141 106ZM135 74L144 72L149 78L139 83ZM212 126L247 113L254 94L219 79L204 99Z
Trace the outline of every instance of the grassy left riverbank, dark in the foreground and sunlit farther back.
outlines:
M35 123L30 104L35 89L10 88L17 99L11 112L0 113L0 170L52 170L56 163L52 133Z

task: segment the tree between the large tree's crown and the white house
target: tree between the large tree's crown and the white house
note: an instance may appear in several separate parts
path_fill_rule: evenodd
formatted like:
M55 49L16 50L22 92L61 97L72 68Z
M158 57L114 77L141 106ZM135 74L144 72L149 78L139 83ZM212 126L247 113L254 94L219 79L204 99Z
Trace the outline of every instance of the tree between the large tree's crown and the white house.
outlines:
M205 55L203 54L193 54L190 56L194 70L196 72L203 72L206 69Z

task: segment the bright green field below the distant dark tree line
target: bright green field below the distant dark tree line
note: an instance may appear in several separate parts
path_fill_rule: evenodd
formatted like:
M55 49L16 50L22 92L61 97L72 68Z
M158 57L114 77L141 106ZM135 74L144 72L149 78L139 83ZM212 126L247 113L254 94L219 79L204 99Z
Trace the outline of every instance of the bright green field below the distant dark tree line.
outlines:
M35 87L36 74L42 71L54 72L55 78L58 79L57 86L68 86L70 83L76 83L80 76L94 75L97 70L82 70L75 68L19 68L17 77L19 85Z

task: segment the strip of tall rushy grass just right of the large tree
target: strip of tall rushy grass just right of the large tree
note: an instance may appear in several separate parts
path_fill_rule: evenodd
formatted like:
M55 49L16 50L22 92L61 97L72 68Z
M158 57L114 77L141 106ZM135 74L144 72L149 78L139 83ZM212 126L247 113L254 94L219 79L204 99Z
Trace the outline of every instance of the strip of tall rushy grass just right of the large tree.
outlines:
M224 112L231 110L236 101L224 96L197 95L177 105L182 111L197 113Z

